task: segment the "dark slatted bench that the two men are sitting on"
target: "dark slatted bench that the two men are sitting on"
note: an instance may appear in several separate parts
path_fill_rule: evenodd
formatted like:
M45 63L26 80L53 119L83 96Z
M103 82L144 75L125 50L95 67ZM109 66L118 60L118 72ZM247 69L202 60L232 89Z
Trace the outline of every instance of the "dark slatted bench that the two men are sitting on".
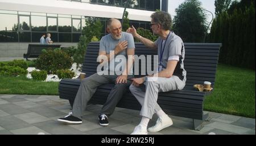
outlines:
M200 130L202 123L208 118L208 113L203 111L203 102L205 95L209 93L197 91L193 85L210 81L212 87L214 86L221 44L184 43L184 45L184 67L187 70L186 86L181 91L159 93L158 104L169 115L193 119L193 129ZM86 73L86 77L96 73L98 49L99 42L90 43L87 47L82 65L82 72ZM146 48L142 43L135 43L135 55L156 54L156 51ZM61 80L59 84L60 98L68 99L72 106L79 85L79 78ZM89 103L103 105L113 86L113 84L107 84L98 87ZM123 95L117 107L141 110L141 105L130 91Z

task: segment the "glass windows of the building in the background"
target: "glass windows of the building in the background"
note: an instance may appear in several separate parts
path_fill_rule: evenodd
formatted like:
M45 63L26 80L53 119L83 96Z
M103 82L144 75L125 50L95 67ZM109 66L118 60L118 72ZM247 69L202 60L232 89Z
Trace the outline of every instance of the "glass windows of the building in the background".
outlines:
M62 0L66 1L66 0ZM71 1L71 0L67 0ZM126 0L72 0L76 2L95 3L123 7ZM160 9L160 0L130 0L129 8L155 11ZM87 16L49 14L39 12L0 10L0 42L38 43L42 34L51 33L53 42L76 43L82 34ZM106 35L106 21L103 24L102 36ZM150 22L130 20L130 25L150 30Z

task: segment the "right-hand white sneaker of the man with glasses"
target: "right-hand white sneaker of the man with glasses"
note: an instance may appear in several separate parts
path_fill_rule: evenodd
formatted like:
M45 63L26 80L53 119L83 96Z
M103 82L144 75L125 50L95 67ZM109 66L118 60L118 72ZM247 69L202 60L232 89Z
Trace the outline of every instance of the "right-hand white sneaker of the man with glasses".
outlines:
M166 127L172 126L172 124L172 119L168 115L166 115L162 119L158 118L158 120L156 120L155 126L148 128L147 131L158 132Z

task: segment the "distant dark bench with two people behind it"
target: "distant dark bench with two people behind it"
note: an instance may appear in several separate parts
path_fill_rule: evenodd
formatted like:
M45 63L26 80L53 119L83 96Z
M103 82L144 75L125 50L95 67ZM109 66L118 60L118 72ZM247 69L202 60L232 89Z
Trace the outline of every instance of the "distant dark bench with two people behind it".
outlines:
M27 53L23 54L23 58L38 58L42 54L43 49L60 48L60 44L28 44Z

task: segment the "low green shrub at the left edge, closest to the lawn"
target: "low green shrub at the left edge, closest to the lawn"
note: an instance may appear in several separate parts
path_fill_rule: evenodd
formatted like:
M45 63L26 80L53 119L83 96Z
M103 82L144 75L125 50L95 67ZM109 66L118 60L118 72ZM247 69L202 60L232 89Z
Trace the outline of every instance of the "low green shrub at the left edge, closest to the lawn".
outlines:
M19 66L0 66L0 75L2 76L18 76L27 74L27 70Z

